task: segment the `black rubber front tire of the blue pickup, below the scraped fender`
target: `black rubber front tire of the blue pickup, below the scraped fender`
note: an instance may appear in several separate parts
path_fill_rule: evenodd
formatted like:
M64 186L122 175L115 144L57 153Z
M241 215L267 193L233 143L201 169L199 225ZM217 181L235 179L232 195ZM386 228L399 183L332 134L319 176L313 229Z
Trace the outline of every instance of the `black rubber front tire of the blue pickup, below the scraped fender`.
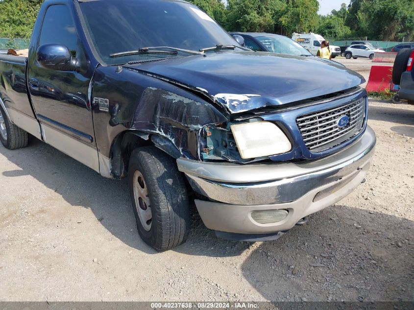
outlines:
M140 219L143 211L137 209L144 205L145 209L141 209L147 210L147 206L142 199L136 201L134 194L134 175L140 172L145 183L137 180L135 186L139 184L142 189L147 186L152 215L149 230ZM189 199L184 176L178 171L175 160L155 146L136 148L129 160L128 183L138 233L144 242L157 251L185 242L190 233Z

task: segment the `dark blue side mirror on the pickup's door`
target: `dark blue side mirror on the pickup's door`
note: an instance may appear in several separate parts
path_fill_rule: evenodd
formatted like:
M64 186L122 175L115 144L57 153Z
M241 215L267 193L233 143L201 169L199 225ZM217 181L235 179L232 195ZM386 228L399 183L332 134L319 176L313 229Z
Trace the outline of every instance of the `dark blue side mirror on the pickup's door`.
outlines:
M45 44L36 51L37 62L44 68L56 71L75 71L78 61L70 50L61 44Z

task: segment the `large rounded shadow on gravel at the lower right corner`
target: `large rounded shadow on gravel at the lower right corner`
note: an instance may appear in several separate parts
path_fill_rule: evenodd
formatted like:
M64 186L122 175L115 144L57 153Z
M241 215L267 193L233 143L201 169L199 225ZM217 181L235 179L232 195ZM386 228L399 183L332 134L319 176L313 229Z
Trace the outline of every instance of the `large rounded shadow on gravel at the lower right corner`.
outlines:
M268 300L413 301L413 229L405 218L334 205L262 243L243 275Z

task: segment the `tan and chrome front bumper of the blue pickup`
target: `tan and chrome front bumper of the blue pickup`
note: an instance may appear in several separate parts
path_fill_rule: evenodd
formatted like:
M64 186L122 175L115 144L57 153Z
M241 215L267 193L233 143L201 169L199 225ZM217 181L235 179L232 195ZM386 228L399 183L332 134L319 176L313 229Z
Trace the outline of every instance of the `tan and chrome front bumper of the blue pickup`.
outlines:
M375 133L367 127L351 146L315 161L278 164L216 164L178 159L191 186L212 201L195 200L204 224L217 231L270 234L326 208L353 191L372 161ZM218 168L219 166L219 168ZM260 224L254 211L287 210L280 222Z

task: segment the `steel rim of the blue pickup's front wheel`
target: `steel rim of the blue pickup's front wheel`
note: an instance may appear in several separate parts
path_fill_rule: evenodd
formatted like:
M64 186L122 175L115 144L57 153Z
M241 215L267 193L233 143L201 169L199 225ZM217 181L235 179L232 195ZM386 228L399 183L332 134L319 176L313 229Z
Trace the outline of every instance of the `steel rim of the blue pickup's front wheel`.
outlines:
M146 186L144 176L139 170L136 170L134 173L133 187L138 217L143 228L149 232L152 226L151 204L148 196L148 187Z

